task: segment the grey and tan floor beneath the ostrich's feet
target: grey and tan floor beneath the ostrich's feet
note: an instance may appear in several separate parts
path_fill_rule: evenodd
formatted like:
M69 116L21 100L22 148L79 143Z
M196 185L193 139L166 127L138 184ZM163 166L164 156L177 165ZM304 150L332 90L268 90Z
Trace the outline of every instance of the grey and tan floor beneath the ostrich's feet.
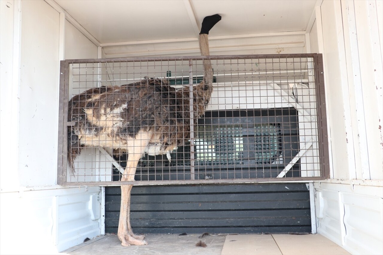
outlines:
M222 255L343 255L350 254L322 235L146 235L149 245L121 246L116 235L102 235L69 248L62 255L222 254ZM206 247L196 247L202 240Z

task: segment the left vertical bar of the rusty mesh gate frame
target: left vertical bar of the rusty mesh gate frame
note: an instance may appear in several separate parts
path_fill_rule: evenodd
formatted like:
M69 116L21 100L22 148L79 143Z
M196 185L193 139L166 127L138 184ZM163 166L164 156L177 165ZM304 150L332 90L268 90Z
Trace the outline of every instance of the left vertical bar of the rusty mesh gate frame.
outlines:
M69 85L69 62L60 61L60 84L59 84L59 133L57 143L57 184L66 182L67 170L67 112L68 112L68 85ZM65 177L65 180L64 180Z

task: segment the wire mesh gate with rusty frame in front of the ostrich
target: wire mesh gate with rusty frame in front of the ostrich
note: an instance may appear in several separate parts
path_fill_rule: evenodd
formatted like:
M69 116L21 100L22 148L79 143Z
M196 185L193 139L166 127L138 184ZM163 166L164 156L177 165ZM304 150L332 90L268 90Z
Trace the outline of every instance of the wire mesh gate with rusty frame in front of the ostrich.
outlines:
M119 185L134 155L134 184L327 177L321 55L209 59L62 61L58 182Z

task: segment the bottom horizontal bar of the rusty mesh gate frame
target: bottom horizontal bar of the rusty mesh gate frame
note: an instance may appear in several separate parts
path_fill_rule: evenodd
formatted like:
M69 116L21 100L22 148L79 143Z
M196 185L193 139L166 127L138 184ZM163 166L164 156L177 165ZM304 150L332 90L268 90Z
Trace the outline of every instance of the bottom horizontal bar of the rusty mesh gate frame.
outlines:
M324 177L284 177L264 179L223 179L223 180L165 180L165 181L100 181L86 182L87 186L120 186L120 185L170 185L170 184L213 184L213 183L261 183L261 182L307 182L324 180ZM79 186L84 182L68 182L65 185Z

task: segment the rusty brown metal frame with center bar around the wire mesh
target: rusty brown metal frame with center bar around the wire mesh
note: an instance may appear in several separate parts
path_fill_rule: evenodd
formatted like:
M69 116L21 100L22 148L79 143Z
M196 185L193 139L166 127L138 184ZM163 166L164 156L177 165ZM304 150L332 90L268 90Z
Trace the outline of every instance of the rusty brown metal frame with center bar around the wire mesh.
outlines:
M309 181L309 180L324 180L325 178L329 178L329 152L328 152L328 141L327 141L327 120L326 120L326 105L325 105L325 92L324 92L324 76L323 76L323 60L321 54L266 54L266 55L239 55L239 56L212 56L210 59L246 59L246 58L271 58L271 57L313 57L314 58L314 72L315 72L315 83L316 83L316 99L317 99L317 112L318 112L318 130L319 130L319 153L321 157L321 177L293 177L293 178L284 178L283 181ZM193 60L203 60L204 57L189 57L189 63L191 68L191 63ZM113 62L113 61L137 61L145 60L143 58L130 58L128 60L124 60L122 58L119 59L85 59L83 61L80 60L66 60L61 63L61 73L62 69L64 69L63 75L64 79L60 80L60 113L62 113L61 118L59 119L59 125L64 127L59 130L59 146L62 148L62 155L58 157L58 163L61 163L61 166L58 167L58 175L57 175L57 184L65 184L65 185L74 185L78 186L83 182L67 182L66 181L66 173L67 169L64 169L64 166L67 165L67 139L66 138L66 127L71 126L72 123L67 122L67 102L68 102L68 88L69 88L69 64L73 63L88 63L88 62ZM165 60L184 60L185 58L160 58ZM103 61L105 60L105 61ZM147 61L159 60L159 58L147 58ZM194 118L193 118L193 75L192 70L190 70L190 131L191 131L191 153L192 157L194 156ZM64 93L64 97L62 97L62 93ZM62 102L62 103L61 103ZM320 122L320 123L319 123ZM60 127L60 126L59 126ZM192 164L194 163L194 158L192 159ZM193 165L194 170L194 165ZM65 179L64 179L65 177ZM195 183L194 171L191 175L191 180L169 180L169 181L134 181L134 182L119 182L119 181L104 181L104 182L86 182L87 185L95 185L95 186L119 186L121 184L133 184L134 185L160 185L160 184L183 184L183 183ZM256 183L256 182L265 182L265 181L273 181L278 182L276 178L263 178L263 179L227 179L227 180L198 180L198 183Z

